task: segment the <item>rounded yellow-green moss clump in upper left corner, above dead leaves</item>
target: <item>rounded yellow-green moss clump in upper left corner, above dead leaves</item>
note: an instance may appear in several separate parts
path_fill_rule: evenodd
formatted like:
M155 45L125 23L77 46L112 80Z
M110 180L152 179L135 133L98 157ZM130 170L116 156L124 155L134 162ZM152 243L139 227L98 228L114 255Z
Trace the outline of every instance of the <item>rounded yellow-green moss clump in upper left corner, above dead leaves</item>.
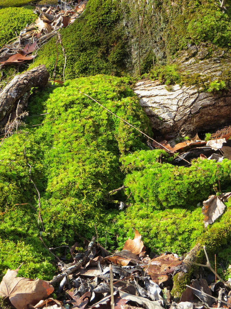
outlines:
M32 23L37 18L31 9L5 8L0 10L0 47L15 37L27 23Z

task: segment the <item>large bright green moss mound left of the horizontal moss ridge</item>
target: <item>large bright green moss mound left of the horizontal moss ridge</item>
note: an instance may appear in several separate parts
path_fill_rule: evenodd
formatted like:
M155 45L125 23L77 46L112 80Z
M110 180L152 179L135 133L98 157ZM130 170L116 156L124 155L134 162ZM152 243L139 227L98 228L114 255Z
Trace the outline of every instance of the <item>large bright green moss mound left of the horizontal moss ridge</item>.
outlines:
M42 237L47 246L75 243L78 234L91 239L96 222L99 241L103 243L107 231L107 246L115 248L112 221L118 211L105 197L123 184L120 154L147 147L139 132L79 90L150 134L148 118L128 82L128 78L103 75L80 78L64 87L47 87L30 99L26 127L7 138L0 151L1 272L25 261L21 274L53 275L47 263L51 257L39 240L41 224L38 228L38 214L32 208L38 207L38 197L29 179L24 146L41 194ZM44 125L31 127L41 122Z

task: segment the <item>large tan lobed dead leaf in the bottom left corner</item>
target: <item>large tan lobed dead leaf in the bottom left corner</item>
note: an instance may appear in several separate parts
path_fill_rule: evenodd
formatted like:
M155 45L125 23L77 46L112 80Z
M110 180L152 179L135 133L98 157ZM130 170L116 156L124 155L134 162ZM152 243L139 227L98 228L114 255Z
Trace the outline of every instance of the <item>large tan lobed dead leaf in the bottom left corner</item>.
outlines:
M17 274L18 269L8 269L0 284L0 296L9 297L17 309L25 309L28 304L35 305L54 291L48 281L16 277Z

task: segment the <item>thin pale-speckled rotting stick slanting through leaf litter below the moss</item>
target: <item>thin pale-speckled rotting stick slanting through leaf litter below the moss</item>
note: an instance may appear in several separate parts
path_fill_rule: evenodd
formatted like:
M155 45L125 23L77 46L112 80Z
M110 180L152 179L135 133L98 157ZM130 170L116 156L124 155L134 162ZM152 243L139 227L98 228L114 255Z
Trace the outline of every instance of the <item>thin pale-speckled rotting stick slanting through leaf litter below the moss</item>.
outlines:
M87 250L85 251L83 257L74 265L71 265L67 269L64 269L63 273L60 273L59 275L53 277L51 284L56 284L60 282L65 276L71 275L72 273L75 273L76 270L80 269L81 266L83 266L87 260L89 260L89 255L91 254L92 247L95 243L96 237L93 236L91 239L91 242L89 243ZM65 267L65 266L64 266Z

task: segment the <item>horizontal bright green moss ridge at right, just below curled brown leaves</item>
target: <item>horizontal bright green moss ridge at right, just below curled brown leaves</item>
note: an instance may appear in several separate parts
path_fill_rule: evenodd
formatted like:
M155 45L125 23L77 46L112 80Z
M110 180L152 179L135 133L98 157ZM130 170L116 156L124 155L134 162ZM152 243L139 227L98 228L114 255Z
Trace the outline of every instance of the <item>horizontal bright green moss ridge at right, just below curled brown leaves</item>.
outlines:
M213 192L213 187L231 184L231 161L225 159L217 174L217 164L214 161L204 160L195 162L192 166L175 167L169 163L145 164L142 167L133 165L134 159L142 162L143 151L129 155L124 162L124 168L131 171L126 176L125 185L129 187L128 193L136 203L147 203L155 209L187 207L194 205ZM129 162L130 161L130 162ZM199 169L197 168L199 167Z

